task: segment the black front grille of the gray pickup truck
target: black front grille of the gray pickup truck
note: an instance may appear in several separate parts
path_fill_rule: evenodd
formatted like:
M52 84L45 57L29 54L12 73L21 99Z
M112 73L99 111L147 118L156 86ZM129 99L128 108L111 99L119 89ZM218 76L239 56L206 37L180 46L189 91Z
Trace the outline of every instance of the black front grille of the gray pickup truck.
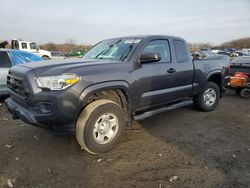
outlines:
M8 74L7 76L8 88L15 94L21 96L22 98L26 98L29 96L28 86L24 82L24 76L17 76L14 74Z

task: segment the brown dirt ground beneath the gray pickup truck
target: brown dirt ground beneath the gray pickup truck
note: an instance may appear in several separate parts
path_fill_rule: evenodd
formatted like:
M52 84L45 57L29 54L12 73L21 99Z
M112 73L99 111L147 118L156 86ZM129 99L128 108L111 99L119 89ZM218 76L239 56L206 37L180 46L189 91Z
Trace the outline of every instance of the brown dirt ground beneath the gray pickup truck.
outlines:
M139 122L103 155L11 120L3 101L0 187L250 187L250 100L233 92L210 113L190 106Z

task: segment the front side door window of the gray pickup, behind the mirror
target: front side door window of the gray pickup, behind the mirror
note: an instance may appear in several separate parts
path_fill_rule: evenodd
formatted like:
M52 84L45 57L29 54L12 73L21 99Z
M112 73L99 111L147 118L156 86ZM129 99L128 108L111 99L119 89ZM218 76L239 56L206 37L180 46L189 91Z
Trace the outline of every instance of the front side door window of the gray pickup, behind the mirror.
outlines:
M167 40L153 40L149 42L142 51L142 54L145 53L159 53L161 56L160 63L170 63L171 61L170 48Z

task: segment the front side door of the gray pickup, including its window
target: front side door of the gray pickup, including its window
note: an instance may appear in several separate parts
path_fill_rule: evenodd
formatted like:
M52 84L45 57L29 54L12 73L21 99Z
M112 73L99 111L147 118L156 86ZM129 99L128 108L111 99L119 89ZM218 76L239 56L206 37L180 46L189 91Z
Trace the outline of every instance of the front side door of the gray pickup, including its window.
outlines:
M133 87L134 91L137 92L137 106L139 108L165 103L174 99L173 96L168 95L169 89L174 84L174 74L169 73L169 69L173 65L169 41L157 39L148 42L141 54L146 53L159 53L161 60L142 64L134 72L137 81L135 81Z

